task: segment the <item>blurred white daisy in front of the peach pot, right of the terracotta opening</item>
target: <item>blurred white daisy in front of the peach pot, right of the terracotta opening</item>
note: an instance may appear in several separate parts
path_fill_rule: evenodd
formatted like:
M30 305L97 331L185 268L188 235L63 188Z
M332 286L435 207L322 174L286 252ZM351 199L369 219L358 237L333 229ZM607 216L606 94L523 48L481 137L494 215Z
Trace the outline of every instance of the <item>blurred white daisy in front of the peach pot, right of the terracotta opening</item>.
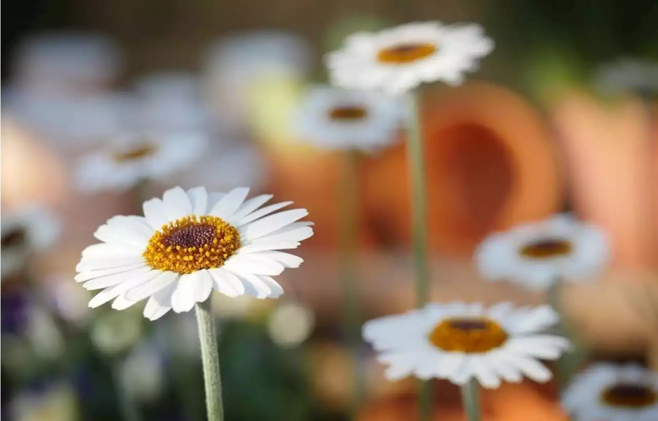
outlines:
M478 246L475 260L492 281L542 290L559 279L595 275L605 267L609 254L607 237L597 227L556 215L490 235Z

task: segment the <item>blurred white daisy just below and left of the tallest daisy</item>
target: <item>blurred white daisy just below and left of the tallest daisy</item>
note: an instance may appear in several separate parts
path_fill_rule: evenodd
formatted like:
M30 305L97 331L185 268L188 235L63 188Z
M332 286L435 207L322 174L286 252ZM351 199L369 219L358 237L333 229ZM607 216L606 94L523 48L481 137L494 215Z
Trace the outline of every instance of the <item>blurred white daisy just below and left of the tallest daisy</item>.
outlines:
M373 150L391 144L401 122L399 101L374 90L316 85L295 119L301 140L327 149Z

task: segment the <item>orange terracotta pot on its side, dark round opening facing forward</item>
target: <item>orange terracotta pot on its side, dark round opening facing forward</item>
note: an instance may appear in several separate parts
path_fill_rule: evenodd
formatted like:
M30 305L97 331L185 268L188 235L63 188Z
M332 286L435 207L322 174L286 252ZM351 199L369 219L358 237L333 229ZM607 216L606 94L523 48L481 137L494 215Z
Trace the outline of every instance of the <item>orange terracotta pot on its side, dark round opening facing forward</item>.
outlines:
M426 92L422 131L434 249L470 254L492 230L560 210L549 130L517 94L483 82ZM410 238L405 155L401 143L367 172L368 215L392 242Z

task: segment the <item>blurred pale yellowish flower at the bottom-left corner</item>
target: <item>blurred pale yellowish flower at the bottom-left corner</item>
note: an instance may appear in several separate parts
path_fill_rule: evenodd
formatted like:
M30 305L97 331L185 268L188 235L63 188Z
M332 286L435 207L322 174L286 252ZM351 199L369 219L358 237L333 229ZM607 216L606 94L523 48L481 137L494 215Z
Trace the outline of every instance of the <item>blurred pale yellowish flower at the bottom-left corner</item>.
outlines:
M73 387L64 382L48 385L45 390L21 391L11 399L9 412L13 421L76 421L78 401Z

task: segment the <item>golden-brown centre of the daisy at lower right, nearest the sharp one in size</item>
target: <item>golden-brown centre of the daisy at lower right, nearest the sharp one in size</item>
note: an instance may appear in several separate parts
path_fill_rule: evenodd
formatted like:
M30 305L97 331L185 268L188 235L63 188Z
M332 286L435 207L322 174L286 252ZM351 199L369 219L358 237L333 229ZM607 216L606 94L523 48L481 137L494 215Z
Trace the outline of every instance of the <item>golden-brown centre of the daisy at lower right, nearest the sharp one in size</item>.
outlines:
M487 318L448 318L434 327L429 339L442 351L478 353L503 345L507 332Z

